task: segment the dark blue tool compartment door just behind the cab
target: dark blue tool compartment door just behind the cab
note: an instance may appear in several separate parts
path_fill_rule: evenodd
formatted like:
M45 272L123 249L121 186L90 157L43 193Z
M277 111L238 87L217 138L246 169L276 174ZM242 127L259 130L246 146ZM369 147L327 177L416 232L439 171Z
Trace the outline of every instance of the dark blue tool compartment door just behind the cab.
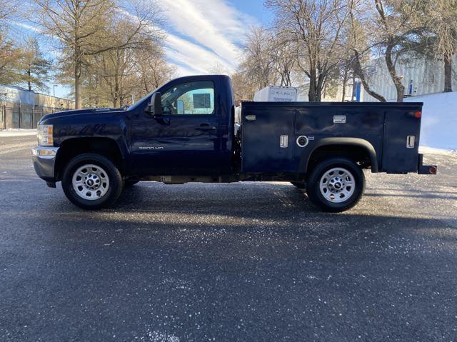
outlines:
M295 172L295 109L271 103L243 103L243 172Z

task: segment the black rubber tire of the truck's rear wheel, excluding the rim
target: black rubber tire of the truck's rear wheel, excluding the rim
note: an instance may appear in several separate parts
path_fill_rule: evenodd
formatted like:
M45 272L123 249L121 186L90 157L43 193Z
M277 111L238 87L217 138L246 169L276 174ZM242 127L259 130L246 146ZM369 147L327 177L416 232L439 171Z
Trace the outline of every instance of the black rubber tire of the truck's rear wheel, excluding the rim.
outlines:
M327 188L324 188L323 191L321 191L320 187L320 182L324 174L336 168L341 168L349 171L349 173L351 173L353 176L353 181L355 183L355 186L353 186L353 193L347 198L344 198L344 196L346 196L345 193L338 193L336 195L338 196L336 200L341 201L339 203L334 203L333 201L327 199L323 195L323 192L326 193L326 191L328 191ZM335 174L338 176L337 173ZM325 181L325 178L323 178L323 181ZM341 182L338 183L341 184ZM358 166L353 161L345 158L331 158L327 159L326 161L322 161L311 171L306 185L306 193L308 194L308 198L310 199L311 203L323 209L324 211L339 213L341 211L346 211L352 208L358 203L358 201L360 201L363 191L365 191L365 175L363 174L360 166ZM346 185L343 183L343 187L345 186ZM340 187L341 185L338 185L338 188ZM348 186L346 189L351 191L351 186ZM333 192L328 192L328 196L333 196L333 198L335 197Z

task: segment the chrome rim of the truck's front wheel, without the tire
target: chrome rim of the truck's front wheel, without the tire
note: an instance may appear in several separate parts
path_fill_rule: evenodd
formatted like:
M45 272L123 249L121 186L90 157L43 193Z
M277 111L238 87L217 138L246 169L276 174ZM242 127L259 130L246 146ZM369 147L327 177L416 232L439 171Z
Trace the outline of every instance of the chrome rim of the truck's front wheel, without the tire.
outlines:
M73 174L73 188L79 197L95 201L103 197L109 189L109 177L98 165L86 164Z

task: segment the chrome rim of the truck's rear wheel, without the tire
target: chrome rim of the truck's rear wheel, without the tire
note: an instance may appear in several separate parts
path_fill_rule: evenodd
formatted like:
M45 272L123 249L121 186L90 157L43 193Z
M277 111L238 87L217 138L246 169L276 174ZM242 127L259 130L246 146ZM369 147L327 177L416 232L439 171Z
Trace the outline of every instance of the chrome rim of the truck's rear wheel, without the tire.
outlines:
M323 173L319 188L327 201L341 203L348 201L356 191L356 181L347 169L333 168Z

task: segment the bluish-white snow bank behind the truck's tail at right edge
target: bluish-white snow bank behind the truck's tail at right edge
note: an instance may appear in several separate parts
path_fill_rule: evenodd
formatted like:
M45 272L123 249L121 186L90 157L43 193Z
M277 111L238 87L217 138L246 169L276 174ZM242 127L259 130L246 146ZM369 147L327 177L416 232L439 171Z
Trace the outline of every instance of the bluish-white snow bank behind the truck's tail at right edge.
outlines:
M423 102L421 146L457 150L457 92L413 96L405 102Z

